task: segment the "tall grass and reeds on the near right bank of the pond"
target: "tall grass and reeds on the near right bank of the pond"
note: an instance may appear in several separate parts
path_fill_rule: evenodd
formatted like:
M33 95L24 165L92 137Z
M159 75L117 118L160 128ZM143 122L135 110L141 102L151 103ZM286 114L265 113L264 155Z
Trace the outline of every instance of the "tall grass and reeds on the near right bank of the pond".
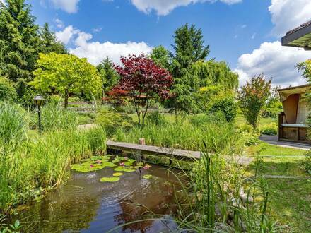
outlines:
M178 228L189 232L281 232L269 215L266 181L246 179L244 169L221 156L202 153L177 196Z

